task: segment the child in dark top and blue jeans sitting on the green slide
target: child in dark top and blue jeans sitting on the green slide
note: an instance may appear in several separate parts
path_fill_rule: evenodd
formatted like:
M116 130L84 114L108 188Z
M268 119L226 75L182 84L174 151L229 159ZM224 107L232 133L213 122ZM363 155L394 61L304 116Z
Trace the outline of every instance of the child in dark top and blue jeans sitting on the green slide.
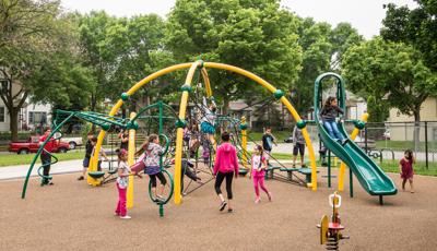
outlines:
M335 97L328 97L324 101L323 107L320 110L320 116L328 133L333 139L336 139L339 142L341 142L341 144L345 144L347 140L344 139L343 134L340 133L335 122L335 118L338 117L338 115L343 115L344 112L341 108L336 106L336 104L338 101Z

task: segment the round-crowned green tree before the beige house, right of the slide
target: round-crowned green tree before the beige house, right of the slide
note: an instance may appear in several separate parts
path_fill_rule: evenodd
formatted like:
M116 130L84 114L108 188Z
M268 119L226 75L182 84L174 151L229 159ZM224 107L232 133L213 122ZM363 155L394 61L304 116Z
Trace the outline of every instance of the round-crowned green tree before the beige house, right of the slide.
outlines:
M437 77L425 65L421 52L402 43L376 37L347 50L342 67L353 92L386 109L395 107L414 116L416 122L421 121L421 105L437 94Z

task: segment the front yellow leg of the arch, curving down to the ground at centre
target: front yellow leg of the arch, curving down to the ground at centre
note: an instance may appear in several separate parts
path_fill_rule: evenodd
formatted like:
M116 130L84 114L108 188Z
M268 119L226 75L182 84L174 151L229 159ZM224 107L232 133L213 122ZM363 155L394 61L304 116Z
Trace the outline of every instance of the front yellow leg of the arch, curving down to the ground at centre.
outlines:
M187 79L185 80L185 85L190 86L192 76L194 75L196 69L201 62L197 61L191 64L188 71ZM179 106L179 119L185 120L187 105L188 105L188 91L182 92L182 97L180 99ZM180 196L180 176L181 176L181 164L182 164L182 143L184 143L184 128L178 128L176 131L176 156L175 156L175 204L179 205L181 203Z

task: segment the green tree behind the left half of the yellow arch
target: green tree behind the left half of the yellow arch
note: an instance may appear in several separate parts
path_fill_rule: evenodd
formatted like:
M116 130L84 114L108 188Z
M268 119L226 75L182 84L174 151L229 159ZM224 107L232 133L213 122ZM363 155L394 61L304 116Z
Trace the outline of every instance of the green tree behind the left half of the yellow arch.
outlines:
M117 20L108 27L105 37L105 51L115 58L113 71L108 76L110 88L106 97L117 100L121 92L128 89L144 76L174 63L173 56L164 48L164 21L156 14ZM174 79L165 75L135 93L130 99L130 109L135 110L135 103L146 97L163 98L177 92L179 86L170 85ZM149 100L145 101L149 104Z

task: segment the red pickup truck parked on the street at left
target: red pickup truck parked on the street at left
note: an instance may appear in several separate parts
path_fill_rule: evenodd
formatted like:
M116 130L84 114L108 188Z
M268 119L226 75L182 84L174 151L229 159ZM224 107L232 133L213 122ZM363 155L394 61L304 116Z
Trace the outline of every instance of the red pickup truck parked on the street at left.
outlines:
M9 152L17 154L36 153L39 148L39 138L40 136L31 136L26 142L11 142L9 144ZM60 141L54 142L54 153L67 153L69 150L69 144Z

